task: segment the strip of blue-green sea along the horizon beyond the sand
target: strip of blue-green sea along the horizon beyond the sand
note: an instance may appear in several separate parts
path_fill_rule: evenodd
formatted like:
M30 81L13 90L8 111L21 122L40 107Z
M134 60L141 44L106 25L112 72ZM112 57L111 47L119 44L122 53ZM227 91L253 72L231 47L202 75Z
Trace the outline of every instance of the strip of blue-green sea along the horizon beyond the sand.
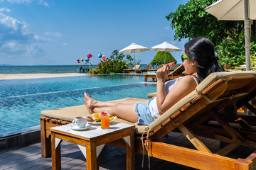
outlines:
M142 68L146 64L141 64ZM92 64L96 68L97 64ZM0 74L76 73L79 65L0 66Z

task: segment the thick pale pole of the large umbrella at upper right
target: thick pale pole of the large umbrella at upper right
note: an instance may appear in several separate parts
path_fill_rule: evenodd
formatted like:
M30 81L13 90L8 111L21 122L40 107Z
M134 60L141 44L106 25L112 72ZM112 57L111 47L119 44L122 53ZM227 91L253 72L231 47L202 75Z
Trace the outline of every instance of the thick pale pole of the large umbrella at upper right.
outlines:
M250 70L250 19L248 17L248 1L244 0L245 4L245 64L246 70Z

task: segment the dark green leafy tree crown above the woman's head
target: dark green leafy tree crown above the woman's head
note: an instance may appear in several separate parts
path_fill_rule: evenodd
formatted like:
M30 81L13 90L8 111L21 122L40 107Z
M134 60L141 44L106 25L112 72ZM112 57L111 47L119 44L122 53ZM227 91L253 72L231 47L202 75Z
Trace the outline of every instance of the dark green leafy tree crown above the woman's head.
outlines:
M171 21L171 28L175 29L175 40L204 36L215 45L226 39L237 39L243 32L242 21L218 21L215 16L204 11L218 0L190 0L180 5L174 13L166 16ZM235 33L235 34L234 34Z

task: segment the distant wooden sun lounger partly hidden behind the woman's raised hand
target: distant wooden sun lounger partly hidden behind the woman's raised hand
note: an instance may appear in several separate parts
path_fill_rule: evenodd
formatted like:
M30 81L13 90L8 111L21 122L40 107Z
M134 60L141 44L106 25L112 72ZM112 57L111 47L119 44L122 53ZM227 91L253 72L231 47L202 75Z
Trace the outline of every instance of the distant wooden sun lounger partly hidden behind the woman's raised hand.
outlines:
M183 64L181 65L178 65L178 67L176 67L176 69L174 69L173 72L170 72L169 73L169 76L167 77L166 80L169 80L169 79L176 79L178 77L181 77L183 76L183 72L184 72L184 66ZM144 75L144 81L147 81L147 79L151 78L152 81L154 82L155 79L156 79L156 73L150 73L150 74L145 74Z

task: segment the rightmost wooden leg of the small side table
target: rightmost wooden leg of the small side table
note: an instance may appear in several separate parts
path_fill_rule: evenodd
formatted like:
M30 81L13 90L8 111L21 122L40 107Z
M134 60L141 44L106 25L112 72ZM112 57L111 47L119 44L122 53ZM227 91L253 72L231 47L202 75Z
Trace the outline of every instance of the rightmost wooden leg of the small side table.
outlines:
M131 130L130 134L130 143L131 146L127 144L126 150L127 150L127 169L133 170L135 169L135 140L134 140L134 130Z

